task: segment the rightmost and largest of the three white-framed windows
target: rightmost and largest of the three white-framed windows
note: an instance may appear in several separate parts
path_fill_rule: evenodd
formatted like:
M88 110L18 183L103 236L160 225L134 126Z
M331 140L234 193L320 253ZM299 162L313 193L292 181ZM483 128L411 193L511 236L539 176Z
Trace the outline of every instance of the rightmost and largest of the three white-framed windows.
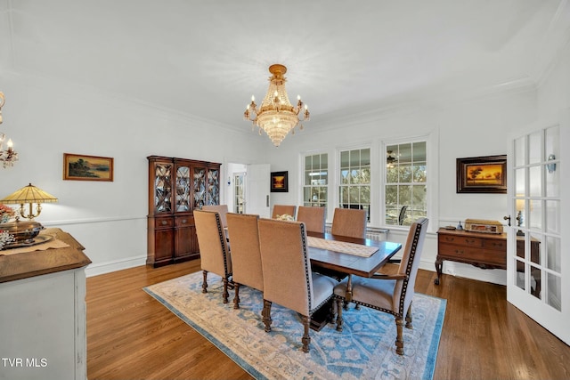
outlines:
M386 223L411 225L427 216L426 141L387 145Z

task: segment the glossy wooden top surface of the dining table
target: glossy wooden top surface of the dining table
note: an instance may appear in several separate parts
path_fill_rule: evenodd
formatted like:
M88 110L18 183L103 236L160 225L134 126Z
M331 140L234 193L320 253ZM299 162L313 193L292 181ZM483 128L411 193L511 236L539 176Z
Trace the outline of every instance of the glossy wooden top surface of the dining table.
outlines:
M319 232L307 232L307 236L344 241L367 247L378 247L378 251L370 257L344 254L317 247L307 247L312 265L361 277L372 277L392 256L402 249L402 244L390 241L348 238L346 236Z

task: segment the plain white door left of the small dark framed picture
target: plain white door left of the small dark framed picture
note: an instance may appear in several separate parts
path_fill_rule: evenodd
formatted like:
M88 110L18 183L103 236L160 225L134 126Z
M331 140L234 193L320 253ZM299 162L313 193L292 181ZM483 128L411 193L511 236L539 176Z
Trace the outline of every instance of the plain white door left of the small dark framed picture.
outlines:
M269 218L269 188L271 178L269 164L248 165L246 173L246 214L258 214Z

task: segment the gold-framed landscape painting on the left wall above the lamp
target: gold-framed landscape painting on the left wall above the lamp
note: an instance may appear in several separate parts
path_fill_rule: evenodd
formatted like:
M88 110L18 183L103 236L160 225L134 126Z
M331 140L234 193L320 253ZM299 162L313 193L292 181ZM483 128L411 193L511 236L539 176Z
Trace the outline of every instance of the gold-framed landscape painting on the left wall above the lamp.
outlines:
M113 181L113 158L63 153L63 179Z

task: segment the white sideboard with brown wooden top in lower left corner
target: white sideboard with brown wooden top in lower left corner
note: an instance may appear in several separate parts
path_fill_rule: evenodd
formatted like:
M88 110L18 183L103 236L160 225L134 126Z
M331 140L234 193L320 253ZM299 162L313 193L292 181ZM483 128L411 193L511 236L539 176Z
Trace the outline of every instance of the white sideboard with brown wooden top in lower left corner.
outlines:
M57 244L0 250L3 379L87 378L85 267L91 261L69 233L50 228L39 236L47 235Z

